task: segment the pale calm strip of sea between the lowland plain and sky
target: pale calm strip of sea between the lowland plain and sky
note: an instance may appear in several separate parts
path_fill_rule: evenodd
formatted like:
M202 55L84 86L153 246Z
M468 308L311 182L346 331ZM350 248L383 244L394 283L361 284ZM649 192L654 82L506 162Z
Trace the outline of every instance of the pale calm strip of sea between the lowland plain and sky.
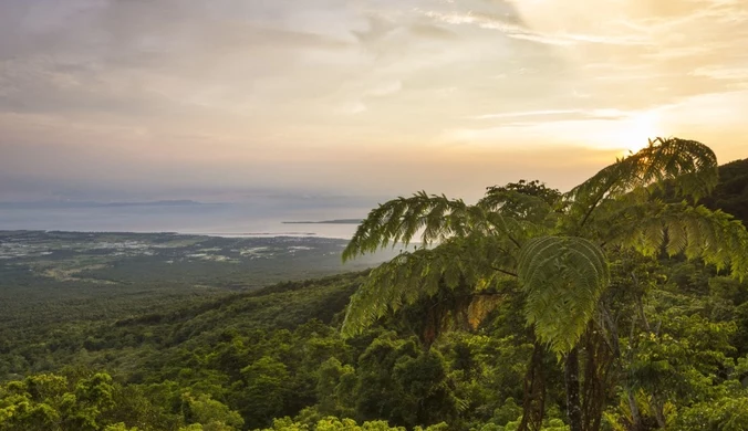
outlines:
M251 203L3 204L0 230L176 232L215 236L351 239L356 224L283 223L363 219L371 207Z

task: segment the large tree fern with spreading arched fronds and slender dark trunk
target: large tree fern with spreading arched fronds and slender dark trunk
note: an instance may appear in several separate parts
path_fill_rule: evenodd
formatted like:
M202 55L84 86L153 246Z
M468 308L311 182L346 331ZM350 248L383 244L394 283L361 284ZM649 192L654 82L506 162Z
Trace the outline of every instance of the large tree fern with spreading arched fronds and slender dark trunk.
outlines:
M682 201L656 198L666 182ZM582 418L579 349L610 284L607 253L683 253L738 278L748 274L742 224L696 203L716 182L707 146L657 138L552 202L532 192L534 181L489 188L475 204L426 192L385 202L361 223L343 260L416 238L423 246L372 271L351 298L343 334L465 286L468 309L486 293L521 295L536 337L563 359L571 430L596 429L602 412ZM537 429L539 419L542 412L522 428Z

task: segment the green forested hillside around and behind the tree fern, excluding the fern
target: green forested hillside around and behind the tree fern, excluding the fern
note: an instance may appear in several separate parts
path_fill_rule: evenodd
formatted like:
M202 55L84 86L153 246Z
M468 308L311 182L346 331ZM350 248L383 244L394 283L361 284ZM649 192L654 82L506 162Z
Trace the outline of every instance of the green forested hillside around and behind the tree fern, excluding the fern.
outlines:
M720 174L704 202L748 224L748 160ZM591 335L588 347L600 350L581 360L584 378L605 364L612 382L596 398L598 429L747 430L748 285L679 256L626 255L612 267L601 301L622 353L612 357ZM21 345L0 340L0 430L518 430L526 390L537 389L531 364L543 369L542 429L568 430L563 370L536 349L519 296L487 313L475 307L468 326L440 320L438 329L460 330L433 345L424 322L458 304L459 292L344 339L345 306L367 275L61 323L49 339Z

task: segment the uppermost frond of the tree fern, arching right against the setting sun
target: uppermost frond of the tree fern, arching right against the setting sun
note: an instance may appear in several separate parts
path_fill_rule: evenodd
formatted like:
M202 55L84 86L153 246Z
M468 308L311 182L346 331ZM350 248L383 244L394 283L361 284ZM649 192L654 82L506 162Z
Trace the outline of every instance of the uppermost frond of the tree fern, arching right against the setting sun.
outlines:
M657 138L650 146L615 164L563 196L570 220L584 225L605 200L648 186L673 185L677 196L698 200L717 183L717 157L704 144L679 138Z

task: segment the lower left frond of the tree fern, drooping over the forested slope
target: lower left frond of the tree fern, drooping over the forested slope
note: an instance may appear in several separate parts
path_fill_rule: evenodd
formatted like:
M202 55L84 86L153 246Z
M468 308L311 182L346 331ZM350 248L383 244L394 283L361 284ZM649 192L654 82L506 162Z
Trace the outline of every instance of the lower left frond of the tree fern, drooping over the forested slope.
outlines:
M501 252L507 245L499 239L474 234L383 263L351 297L343 335L355 335L389 312L438 295L440 290L455 290L460 283L482 292L513 278L513 259Z

